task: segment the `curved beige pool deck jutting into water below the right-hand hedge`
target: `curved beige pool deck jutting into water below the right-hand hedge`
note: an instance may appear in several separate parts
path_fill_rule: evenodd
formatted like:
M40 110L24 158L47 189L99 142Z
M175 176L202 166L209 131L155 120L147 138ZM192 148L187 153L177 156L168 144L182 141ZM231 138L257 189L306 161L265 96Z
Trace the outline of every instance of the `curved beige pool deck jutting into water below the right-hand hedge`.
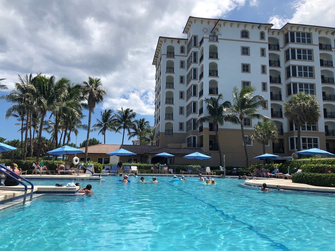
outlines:
M241 185L258 188L262 187L263 183L266 183L267 187L270 189L277 189L277 185L280 185L282 189L288 191L335 194L335 187L292 183L292 180L277 178L257 178L256 180L245 180L245 183L242 183Z

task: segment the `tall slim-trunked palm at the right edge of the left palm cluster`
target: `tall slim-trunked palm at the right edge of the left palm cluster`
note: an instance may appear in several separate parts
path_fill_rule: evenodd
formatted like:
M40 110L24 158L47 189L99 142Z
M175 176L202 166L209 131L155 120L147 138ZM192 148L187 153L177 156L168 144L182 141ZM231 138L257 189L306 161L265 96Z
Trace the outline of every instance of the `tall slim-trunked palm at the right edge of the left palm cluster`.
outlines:
M106 94L107 94L106 90L102 88L100 78L88 77L88 81L83 82L82 95L87 98L88 103L88 129L87 129L87 138L85 146L85 158L84 158L85 163L87 161L88 140L89 140L89 132L91 130L92 110L95 108L96 104L99 104L104 100L104 96Z

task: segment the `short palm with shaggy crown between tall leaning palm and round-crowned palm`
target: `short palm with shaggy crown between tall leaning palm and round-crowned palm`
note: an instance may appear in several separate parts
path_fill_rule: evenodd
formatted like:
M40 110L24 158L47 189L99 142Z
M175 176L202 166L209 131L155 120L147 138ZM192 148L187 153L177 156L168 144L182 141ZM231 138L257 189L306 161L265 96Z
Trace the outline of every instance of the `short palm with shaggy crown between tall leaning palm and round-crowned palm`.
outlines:
M264 122L258 121L254 126L254 134L249 135L248 139L262 144L263 154L265 154L265 145L270 141L274 143L278 142L278 128L276 127L275 122L270 119L265 119Z

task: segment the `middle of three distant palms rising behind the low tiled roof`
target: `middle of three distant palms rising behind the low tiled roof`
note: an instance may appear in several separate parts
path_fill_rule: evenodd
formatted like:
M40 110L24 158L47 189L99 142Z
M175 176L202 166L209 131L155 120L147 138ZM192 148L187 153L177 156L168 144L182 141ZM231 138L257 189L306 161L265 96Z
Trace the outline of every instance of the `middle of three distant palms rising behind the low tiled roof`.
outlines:
M136 117L136 112L133 112L133 109L127 108L124 110L123 107L121 107L121 110L117 110L117 113L114 115L114 117L116 132L120 133L120 130L123 129L123 145L125 130L127 130L128 134L130 134L130 129L134 128L134 119Z

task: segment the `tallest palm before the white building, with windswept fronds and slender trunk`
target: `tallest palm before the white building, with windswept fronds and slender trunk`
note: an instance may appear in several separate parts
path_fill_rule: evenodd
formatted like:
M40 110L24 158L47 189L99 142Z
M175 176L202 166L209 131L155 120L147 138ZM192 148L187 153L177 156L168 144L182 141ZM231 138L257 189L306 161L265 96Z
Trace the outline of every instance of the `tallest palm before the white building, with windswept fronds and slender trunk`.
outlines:
M233 105L231 115L235 115L236 119L232 122L235 124L240 124L242 140L244 142L244 151L246 153L247 164L246 168L249 167L249 156L247 150L247 137L244 134L243 128L243 119L244 118L257 118L257 119L266 119L268 117L259 114L258 108L266 104L264 97L262 95L254 95L256 91L255 87L244 87L239 90L239 87L235 86L232 90Z

